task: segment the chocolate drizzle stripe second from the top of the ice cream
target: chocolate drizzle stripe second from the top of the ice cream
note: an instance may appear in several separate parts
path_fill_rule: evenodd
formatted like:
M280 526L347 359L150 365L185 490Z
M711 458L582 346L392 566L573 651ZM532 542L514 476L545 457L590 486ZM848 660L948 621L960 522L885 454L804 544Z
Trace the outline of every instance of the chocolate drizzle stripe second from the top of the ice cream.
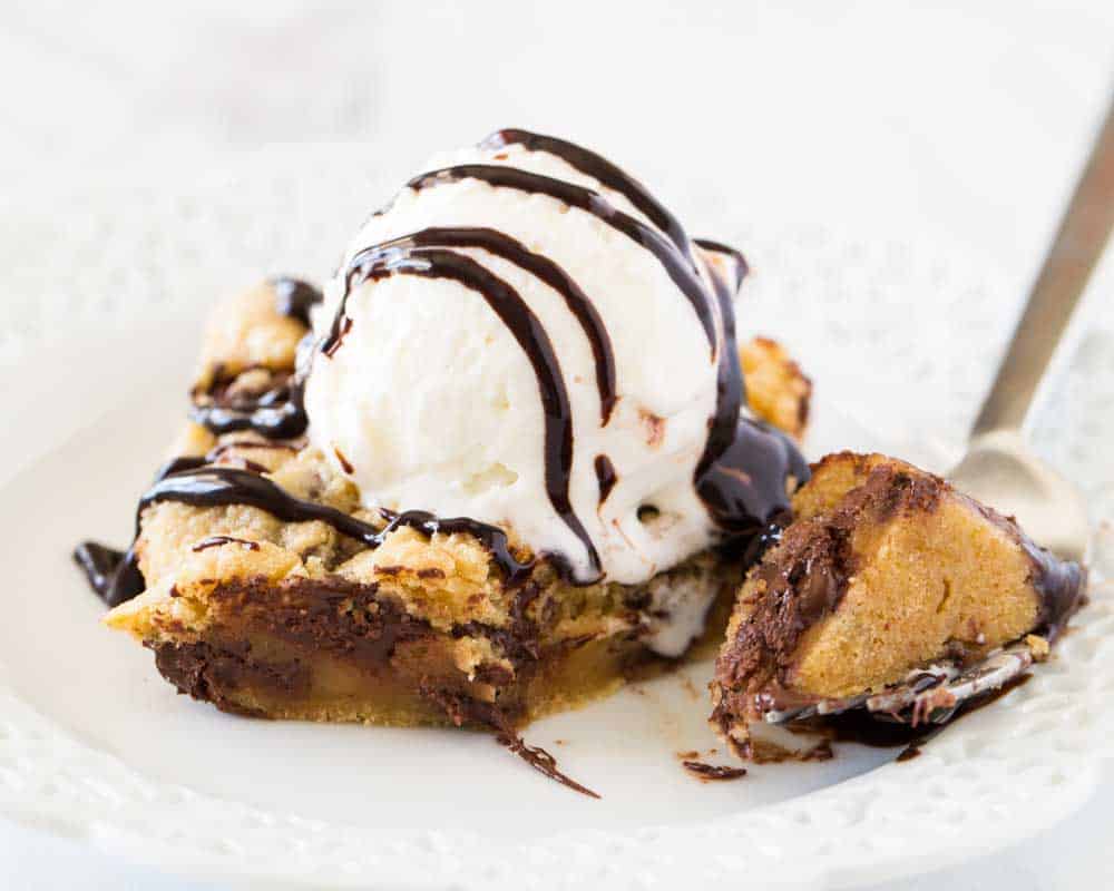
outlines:
M714 353L715 322L712 317L712 302L707 290L700 276L693 271L688 257L656 229L635 219L629 214L616 209L597 192L566 183L564 179L531 174L516 167L504 167L496 164L461 164L457 167L446 167L422 174L407 183L407 186L417 192L459 183L462 179L479 179L496 188L514 188L531 195L548 195L570 207L592 214L645 247L665 267L670 278L692 304Z

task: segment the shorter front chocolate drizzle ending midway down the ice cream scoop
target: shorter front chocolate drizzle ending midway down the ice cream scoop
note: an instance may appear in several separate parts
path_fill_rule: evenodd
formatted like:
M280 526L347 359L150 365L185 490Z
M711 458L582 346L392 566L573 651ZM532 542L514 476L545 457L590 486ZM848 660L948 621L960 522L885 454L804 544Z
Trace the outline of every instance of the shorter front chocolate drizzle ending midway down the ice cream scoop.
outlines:
M373 258L387 251L412 251L417 247L478 247L489 254L502 257L534 277L545 282L565 298L565 305L576 316L584 330L596 363L596 386L599 391L599 410L604 424L607 423L617 399L615 392L615 353L612 339L604 320L599 317L592 300L560 266L541 254L527 249L526 245L491 228L428 228L412 235L392 238L356 254L352 267L360 266L365 258Z

